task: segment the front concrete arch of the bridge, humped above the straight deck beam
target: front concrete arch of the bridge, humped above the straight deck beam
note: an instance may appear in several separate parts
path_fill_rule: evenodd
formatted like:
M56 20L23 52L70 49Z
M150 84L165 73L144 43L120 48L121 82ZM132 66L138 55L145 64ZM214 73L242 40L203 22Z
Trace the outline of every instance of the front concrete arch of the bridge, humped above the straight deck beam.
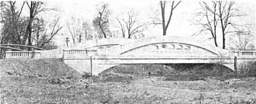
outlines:
M221 49L219 47L215 47L212 44L202 42L201 40L197 40L194 38L184 38L179 36L153 36L149 38L143 38L138 40L132 40L129 43L122 43L118 46L110 47L107 49L109 51L109 54L113 55L131 55L129 53L132 53L132 51L141 49L141 52L145 53L143 51L143 48L146 48L147 46L151 46L152 48L149 48L147 50L156 50L161 49L163 47L167 47L162 51L173 51L176 53L188 51L191 53L199 53L200 51L202 53L208 53L206 55L214 55L214 56L222 56L222 55L233 55L230 51ZM178 51L175 51L173 49L177 49ZM146 50L146 49L144 49ZM200 50L197 52L197 50ZM140 53L141 53L140 52ZM140 54L140 53L133 53L132 55ZM200 53L200 54L202 54Z

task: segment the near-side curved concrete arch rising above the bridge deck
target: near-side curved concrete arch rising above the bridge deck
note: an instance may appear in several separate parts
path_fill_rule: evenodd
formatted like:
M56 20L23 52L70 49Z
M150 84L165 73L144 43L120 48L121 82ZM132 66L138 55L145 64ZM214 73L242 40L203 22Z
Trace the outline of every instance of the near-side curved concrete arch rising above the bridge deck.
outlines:
M130 53L131 51L134 51L136 49L142 49L143 47L146 47L149 45L161 44L161 43L177 44L176 47L178 47L178 44L184 45L183 47L181 46L177 50L184 49L184 50L189 51L189 50L191 50L192 47L194 47L194 49L205 50L208 53L211 53L212 55L218 55L218 56L233 55L228 50L224 50L219 47L215 47L212 44L202 42L201 40L197 40L194 38L184 38L184 37L179 37L179 36L153 36L153 37L149 37L149 38L131 40L131 42L122 43L118 46L110 47L109 49L106 49L105 51L108 51L107 54L109 54L109 55L127 55L128 53ZM172 47L174 47L174 46L172 46Z

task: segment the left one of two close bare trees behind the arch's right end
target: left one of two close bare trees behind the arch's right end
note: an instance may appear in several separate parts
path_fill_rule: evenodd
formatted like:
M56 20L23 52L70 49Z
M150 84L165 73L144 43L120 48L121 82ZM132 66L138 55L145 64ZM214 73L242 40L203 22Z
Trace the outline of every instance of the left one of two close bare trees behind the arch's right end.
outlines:
M195 19L195 25L199 25L201 29L196 34L202 34L202 32L210 32L211 38L213 39L215 46L218 47L217 43L217 35L216 35L216 29L219 21L219 16L217 14L217 2L212 1L212 6L208 5L206 2L199 2L201 5L202 11L196 13L196 17L202 17L199 20Z

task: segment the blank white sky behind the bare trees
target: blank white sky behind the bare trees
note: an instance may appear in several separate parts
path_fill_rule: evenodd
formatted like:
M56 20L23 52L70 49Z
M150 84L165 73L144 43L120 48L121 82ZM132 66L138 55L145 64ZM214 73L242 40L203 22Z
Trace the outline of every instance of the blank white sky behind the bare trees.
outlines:
M65 45L65 38L70 36L67 28L65 27L66 22L71 20L71 17L81 18L83 20L92 23L94 17L96 17L97 7L101 1L100 0L74 0L74 1L45 1L48 7L57 8L58 11L48 12L41 14L45 20L52 21L52 19L60 18L61 25L64 28L61 30L60 36L55 38L55 43L58 46ZM160 9L159 1L156 0L107 0L104 1L109 3L111 10L111 29L116 28L117 22L115 17L122 15L126 10L133 9L137 12L137 18L141 21L151 22L152 16L155 14L157 9ZM177 1L176 1L177 2ZM182 1L180 5L174 10L173 17L171 18L171 23L167 29L167 35L173 36L184 36L191 37L195 32L198 31L198 27L192 24L192 18L194 18L194 13L200 8L199 1ZM237 20L241 24L252 24L252 30L255 31L255 2L254 1L236 1L236 6L246 13L247 16L241 17ZM170 6L170 3L169 5ZM166 13L169 14L169 13ZM120 32L121 33L121 32ZM255 33L255 32L254 32ZM145 36L161 36L162 26L161 25L149 25L148 29L145 31ZM198 36L199 40L206 40L211 35ZM202 38L202 39L201 39ZM256 39L256 38L255 38ZM221 40L221 39L219 39ZM206 40L208 41L208 40ZM212 42L212 41L209 41ZM256 41L255 41L256 44Z

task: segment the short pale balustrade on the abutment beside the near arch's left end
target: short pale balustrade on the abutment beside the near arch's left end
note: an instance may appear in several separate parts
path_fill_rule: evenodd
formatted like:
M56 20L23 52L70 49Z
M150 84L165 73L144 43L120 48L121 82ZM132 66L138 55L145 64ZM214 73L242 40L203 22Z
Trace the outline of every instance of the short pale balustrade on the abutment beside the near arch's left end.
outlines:
M96 55L97 50L63 50L62 58L77 58Z

